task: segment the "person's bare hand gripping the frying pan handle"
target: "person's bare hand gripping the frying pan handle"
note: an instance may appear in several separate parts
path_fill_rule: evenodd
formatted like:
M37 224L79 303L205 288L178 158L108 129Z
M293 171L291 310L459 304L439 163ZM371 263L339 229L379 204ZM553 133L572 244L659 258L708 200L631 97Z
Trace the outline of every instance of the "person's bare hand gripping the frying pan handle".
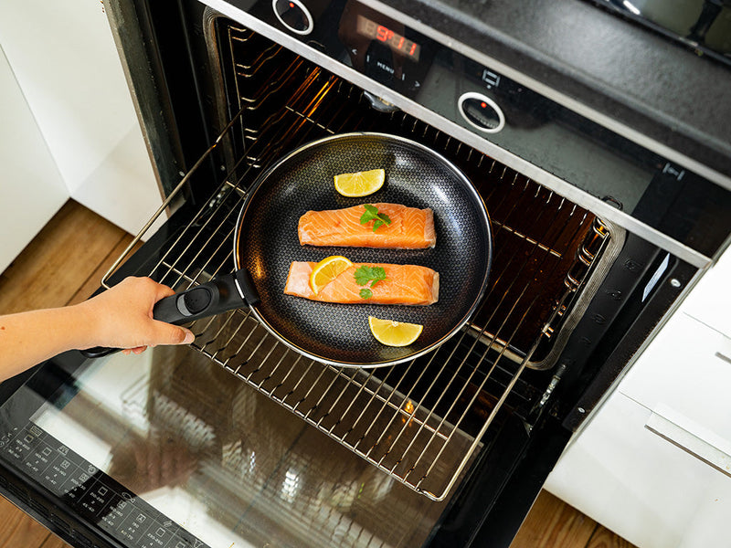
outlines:
M122 348L142 353L157 344L189 344L190 330L153 319L154 304L175 291L149 278L126 278L103 293L77 305L88 339L79 349L92 346Z

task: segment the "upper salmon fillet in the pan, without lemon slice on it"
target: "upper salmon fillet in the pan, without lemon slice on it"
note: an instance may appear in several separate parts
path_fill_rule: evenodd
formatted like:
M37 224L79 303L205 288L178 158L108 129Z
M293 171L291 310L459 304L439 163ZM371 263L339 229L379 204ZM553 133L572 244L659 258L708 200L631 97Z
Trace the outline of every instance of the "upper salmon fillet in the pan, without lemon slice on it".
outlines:
M300 217L297 232L302 245L350 248L423 249L437 244L434 212L400 204L371 204L389 225L373 229L374 221L361 224L365 205L344 209L308 211Z

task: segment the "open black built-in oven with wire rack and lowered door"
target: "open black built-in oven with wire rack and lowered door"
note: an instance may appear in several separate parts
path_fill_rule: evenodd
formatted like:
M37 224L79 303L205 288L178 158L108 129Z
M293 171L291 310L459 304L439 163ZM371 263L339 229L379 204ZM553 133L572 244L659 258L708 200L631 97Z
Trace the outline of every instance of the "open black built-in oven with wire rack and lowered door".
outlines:
M570 437L726 248L727 157L625 125L607 98L582 105L549 64L544 81L521 72L540 64L521 47L501 60L509 40L496 58L470 46L465 6L106 8L165 200L103 286L230 272L260 174L350 132L418 142L469 178L489 284L460 332L402 364L321 363L246 308L193 322L190 348L58 356L3 385L0 490L79 546L508 546Z

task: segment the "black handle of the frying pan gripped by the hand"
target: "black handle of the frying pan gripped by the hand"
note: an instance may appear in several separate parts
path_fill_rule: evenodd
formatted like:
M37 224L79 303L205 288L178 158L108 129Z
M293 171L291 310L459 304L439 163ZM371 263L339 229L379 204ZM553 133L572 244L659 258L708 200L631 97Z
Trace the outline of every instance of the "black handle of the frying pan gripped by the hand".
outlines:
M158 300L153 318L175 325L200 320L246 306L256 306L260 298L246 270L211 279L189 290ZM95 346L81 353L87 358L101 358L121 349Z

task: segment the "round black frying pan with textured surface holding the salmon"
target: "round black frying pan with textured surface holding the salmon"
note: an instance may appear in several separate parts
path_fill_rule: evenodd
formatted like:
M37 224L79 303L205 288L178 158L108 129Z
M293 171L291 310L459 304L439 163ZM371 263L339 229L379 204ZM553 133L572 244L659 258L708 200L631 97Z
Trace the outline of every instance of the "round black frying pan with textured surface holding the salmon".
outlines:
M335 174L383 168L375 194L347 198ZM430 249L302 246L300 216L308 210L390 202L434 211ZM440 273L439 301L429 306L336 304L283 292L291 261L344 255L353 262L417 264ZM461 171L428 147L383 133L347 133L303 145L260 174L238 215L235 272L157 302L154 318L185 323L249 306L281 342L315 360L352 367L397 364L429 352L469 320L487 287L493 257L482 198ZM416 342L377 342L368 316L424 326Z

